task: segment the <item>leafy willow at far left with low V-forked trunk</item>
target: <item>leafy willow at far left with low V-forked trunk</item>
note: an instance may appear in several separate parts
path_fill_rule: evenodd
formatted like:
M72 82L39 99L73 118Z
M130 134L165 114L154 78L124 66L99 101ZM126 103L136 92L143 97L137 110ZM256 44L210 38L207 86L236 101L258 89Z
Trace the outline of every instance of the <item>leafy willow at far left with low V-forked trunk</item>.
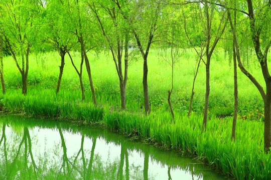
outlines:
M22 75L22 93L27 93L29 53L35 39L35 17L40 4L35 0L2 0L1 38L11 51L12 57Z

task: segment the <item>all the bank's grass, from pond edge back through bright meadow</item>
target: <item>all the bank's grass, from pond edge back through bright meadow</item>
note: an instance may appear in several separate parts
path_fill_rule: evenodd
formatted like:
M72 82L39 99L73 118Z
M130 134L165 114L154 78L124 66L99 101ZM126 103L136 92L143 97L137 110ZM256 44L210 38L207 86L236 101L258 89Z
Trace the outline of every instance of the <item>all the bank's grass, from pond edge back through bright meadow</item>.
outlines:
M77 64L79 55L74 53ZM78 76L66 57L63 80L58 96L55 87L58 78L59 55L47 53L32 55L28 77L28 94L21 94L21 77L11 57L6 57L5 78L7 93L0 95L2 110L22 112L34 116L81 119L102 122L111 129L140 135L168 148L184 149L197 154L203 161L220 168L237 179L271 178L271 157L263 152L263 102L249 79L238 71L239 118L236 141L230 140L233 112L233 67L223 51L213 56L211 62L210 117L206 132L201 133L202 111L205 95L204 65L200 67L195 86L193 112L187 118L188 105L195 66L195 54L187 50L176 64L172 96L176 123L171 120L167 104L170 88L170 67L158 56L150 53L149 93L153 112L144 116L142 88L142 62L133 61L128 69L127 110L120 110L119 84L110 56L89 54L98 107L93 107L86 73L83 76L86 99L81 100ZM252 56L251 58L254 58ZM256 63L249 70L263 84ZM86 70L84 69L84 72ZM112 73L113 72L113 73ZM221 119L217 116L223 116ZM215 137L215 138L214 138Z

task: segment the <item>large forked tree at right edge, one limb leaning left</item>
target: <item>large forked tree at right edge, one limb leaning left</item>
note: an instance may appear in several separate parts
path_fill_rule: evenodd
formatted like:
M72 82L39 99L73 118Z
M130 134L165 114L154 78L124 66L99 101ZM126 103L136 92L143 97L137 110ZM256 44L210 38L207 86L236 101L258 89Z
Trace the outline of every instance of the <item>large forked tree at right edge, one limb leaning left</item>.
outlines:
M231 20L230 11L228 11L228 16L236 48L238 66L256 86L264 102L264 151L268 152L270 151L271 146L271 76L268 69L267 54L271 45L271 0L257 3L253 3L252 0L246 0L246 2L248 12L242 11L242 13L249 17L250 36L253 42L252 46L254 47L255 54L261 67L261 72L265 82L265 90L258 80L256 80L256 78L243 66L240 58L240 42L237 38L238 28L234 26ZM243 4L239 5L238 9L242 6Z

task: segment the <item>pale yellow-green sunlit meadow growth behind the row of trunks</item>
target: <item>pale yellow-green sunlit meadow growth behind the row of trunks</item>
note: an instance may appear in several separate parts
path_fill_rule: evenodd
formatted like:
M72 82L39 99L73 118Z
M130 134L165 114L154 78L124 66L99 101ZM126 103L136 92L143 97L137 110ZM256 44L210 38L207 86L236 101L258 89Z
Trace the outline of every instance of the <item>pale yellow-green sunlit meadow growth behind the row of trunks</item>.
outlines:
M80 55L72 53L74 61L79 65ZM186 50L181 54L181 60L176 64L174 90L172 94L173 108L178 112L188 111L193 80L193 67L197 58L193 50ZM94 88L98 96L107 98L116 106L120 105L119 82L115 65L110 54L89 53ZM251 56L253 59L254 56ZM29 87L37 89L53 89L56 87L59 73L60 56L57 52L32 54L30 56ZM5 78L8 90L19 89L22 86L21 74L12 57L4 59ZM257 62L250 62L249 70L259 82L264 85L261 71ZM83 69L85 90L90 91L86 69ZM210 113L217 116L227 116L233 113L233 67L229 65L228 57L223 50L216 52L211 62L211 92L209 99ZM144 107L142 85L142 61L132 59L128 68L126 88L127 108L131 111L141 111ZM150 52L149 59L149 94L153 110L168 110L167 91L170 88L170 66L159 56L158 50ZM255 86L238 71L239 82L239 116L244 119L259 120L263 114L263 102ZM60 91L80 91L79 78L70 59L66 57ZM77 93L77 92L76 92ZM195 96L192 110L202 113L205 94L205 66L201 64L195 84ZM98 102L99 103L99 102Z

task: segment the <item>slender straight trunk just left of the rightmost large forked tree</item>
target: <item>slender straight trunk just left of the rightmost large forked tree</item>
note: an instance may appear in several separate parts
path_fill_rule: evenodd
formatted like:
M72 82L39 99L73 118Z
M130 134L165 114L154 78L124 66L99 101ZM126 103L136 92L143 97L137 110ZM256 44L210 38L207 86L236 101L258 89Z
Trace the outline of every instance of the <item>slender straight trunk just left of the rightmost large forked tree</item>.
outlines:
M238 112L238 84L237 84L237 64L236 64L236 51L233 43L233 68L234 68L234 115L232 120L231 140L235 141L236 119Z

